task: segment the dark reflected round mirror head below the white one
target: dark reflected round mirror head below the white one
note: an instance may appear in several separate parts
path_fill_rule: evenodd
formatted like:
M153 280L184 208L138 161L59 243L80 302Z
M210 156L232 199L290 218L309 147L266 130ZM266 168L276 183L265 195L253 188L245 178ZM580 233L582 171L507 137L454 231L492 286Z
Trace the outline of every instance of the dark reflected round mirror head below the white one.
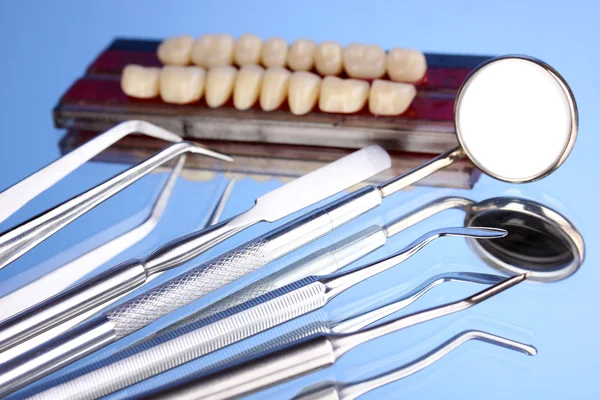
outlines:
M497 197L473 205L465 226L502 228L494 240L467 239L491 267L509 274L531 271L534 281L553 282L575 273L585 245L577 228L558 212L531 200Z

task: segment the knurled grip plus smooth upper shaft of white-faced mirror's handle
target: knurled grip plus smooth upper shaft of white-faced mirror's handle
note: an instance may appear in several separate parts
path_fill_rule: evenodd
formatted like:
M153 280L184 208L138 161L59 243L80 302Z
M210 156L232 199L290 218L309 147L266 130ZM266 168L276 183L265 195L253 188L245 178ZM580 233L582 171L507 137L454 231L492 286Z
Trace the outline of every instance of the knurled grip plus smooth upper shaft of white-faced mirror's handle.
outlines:
M126 336L261 268L381 203L367 187L233 249L107 312L117 335Z

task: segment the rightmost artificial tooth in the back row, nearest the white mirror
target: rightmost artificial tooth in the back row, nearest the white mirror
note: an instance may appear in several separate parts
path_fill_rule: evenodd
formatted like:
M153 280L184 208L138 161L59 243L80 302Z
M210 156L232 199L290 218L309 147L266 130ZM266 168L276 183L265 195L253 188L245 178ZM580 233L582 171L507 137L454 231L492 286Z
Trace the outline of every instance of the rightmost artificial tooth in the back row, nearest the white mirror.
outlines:
M385 68L391 80L414 83L425 76L427 60L419 50L395 47L386 56Z

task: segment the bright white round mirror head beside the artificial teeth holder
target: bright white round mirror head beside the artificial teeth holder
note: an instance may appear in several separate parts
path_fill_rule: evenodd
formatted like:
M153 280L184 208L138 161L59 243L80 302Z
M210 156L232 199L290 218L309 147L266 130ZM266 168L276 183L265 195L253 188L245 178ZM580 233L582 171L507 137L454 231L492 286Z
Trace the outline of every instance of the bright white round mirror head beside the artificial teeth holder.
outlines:
M458 141L486 174L507 182L541 179L567 158L577 136L575 98L543 62L492 59L469 75L454 109Z

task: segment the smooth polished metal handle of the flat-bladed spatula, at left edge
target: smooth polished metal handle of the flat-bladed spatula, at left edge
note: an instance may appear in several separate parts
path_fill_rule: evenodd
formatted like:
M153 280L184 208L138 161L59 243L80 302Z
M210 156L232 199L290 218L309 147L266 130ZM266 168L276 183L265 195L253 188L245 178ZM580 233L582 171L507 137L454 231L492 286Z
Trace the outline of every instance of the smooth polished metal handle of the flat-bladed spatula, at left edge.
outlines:
M127 293L146 282L139 260L117 265L0 324L0 352Z

